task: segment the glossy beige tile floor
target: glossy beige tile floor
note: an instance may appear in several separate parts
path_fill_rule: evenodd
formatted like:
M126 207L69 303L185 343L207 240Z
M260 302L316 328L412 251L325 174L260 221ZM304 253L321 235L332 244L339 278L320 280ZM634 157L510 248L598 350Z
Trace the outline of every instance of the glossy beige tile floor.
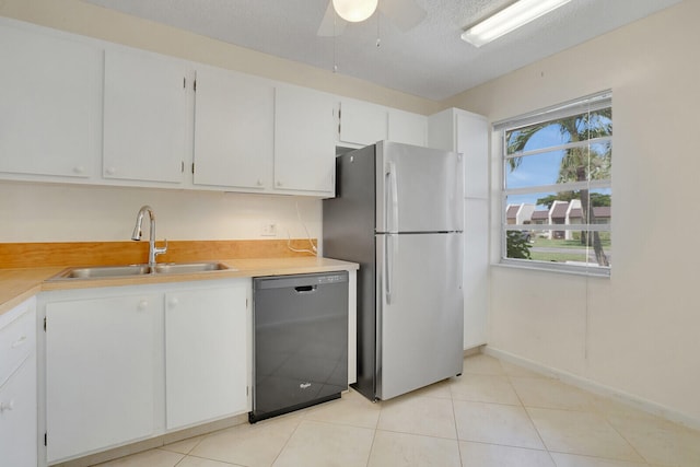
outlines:
M103 467L698 467L700 432L492 357L384 402L354 392Z

